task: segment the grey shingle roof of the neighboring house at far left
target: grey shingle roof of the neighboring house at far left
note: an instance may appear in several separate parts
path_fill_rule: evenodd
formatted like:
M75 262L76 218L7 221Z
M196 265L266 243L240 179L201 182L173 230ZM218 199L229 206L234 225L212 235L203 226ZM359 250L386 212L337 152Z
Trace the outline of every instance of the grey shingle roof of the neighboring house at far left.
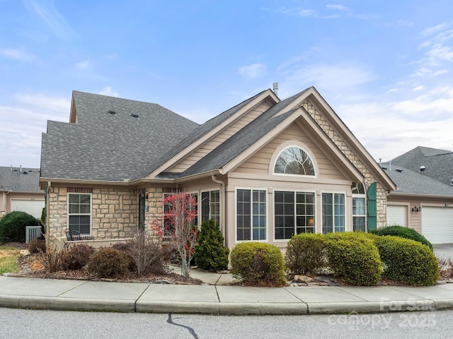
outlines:
M43 192L40 190L40 169L0 167L0 190L14 192Z

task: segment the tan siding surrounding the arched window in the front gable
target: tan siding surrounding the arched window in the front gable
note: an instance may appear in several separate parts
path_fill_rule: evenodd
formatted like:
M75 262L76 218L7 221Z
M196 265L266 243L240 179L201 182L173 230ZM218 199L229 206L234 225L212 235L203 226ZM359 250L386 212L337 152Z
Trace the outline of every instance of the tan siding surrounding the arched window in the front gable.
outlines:
M326 179L345 179L331 160L322 153L316 143L297 124L292 124L285 131L273 138L272 141L261 148L255 155L243 162L235 172L268 174L270 160L275 149L287 141L299 141L309 148L318 164L320 177Z

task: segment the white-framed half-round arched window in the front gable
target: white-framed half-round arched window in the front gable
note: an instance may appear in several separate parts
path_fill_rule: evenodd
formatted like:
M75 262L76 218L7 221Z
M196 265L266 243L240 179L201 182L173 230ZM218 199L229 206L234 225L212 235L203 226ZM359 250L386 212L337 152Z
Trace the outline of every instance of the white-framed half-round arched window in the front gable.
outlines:
M275 162L274 173L315 175L314 165L304 150L298 147L289 147L280 153Z

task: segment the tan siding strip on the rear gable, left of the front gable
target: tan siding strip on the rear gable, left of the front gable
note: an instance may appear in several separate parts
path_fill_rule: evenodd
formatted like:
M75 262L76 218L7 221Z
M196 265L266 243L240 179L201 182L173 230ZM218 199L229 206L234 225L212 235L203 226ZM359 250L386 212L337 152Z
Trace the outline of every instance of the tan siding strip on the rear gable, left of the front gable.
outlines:
M203 143L199 148L193 150L192 153L179 160L176 165L173 165L170 169L168 169L168 172L184 172L185 169L188 169L190 166L195 164L202 157L214 150L214 148L217 148L218 145L224 143L226 140L231 138L231 136L234 136L234 134L243 129L244 126L250 124L251 121L259 117L260 114L268 110L269 107L270 105L267 102L262 102L246 114L243 114L243 116L237 121L234 121L233 124L226 126L224 130L217 133L209 141Z

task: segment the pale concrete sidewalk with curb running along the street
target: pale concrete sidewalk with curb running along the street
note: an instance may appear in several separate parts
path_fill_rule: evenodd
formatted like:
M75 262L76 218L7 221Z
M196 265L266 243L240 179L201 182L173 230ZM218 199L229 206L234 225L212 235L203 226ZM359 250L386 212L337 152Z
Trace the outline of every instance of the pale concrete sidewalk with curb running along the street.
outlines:
M0 307L195 314L337 314L453 308L453 284L430 287L239 287L231 275L191 270L212 285L109 283L0 276Z

